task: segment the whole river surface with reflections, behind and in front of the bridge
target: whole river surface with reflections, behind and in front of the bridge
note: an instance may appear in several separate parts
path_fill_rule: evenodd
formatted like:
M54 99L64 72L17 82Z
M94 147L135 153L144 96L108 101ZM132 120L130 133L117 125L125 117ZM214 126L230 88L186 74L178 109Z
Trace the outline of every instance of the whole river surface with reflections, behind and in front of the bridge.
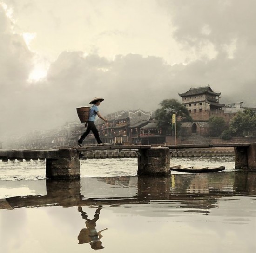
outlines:
M136 158L88 159L79 180L52 181L45 161L0 161L0 252L255 253L256 172L171 164L226 169L148 178Z

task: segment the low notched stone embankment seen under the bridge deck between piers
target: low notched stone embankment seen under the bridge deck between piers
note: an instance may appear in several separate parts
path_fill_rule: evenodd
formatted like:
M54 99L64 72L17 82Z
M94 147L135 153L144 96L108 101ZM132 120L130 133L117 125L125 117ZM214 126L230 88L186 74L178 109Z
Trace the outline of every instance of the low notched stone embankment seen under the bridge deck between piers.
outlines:
M97 150L82 152L83 159L104 159L104 158L137 158L135 150ZM209 148L209 149L182 149L170 150L171 157L199 157L199 156L235 156L234 148Z

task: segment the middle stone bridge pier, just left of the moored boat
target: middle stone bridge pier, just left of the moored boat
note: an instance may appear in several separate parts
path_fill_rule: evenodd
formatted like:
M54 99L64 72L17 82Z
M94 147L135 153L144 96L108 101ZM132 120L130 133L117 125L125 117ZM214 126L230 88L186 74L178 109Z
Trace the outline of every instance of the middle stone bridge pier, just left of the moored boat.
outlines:
M138 175L166 176L170 175L169 148L140 149L138 151Z

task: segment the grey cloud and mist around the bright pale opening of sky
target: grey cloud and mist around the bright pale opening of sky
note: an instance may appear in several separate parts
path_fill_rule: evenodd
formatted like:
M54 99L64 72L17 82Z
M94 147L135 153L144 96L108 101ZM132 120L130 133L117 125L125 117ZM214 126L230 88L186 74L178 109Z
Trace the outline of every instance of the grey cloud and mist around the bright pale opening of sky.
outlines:
M222 92L221 103L255 106L255 1L158 1L170 13L175 38L187 48L213 45L216 55L202 54L186 65L168 65L157 56L61 52L47 77L28 83L34 53L0 7L0 136L50 129L78 120L76 107L104 97L101 113L156 110L163 99L190 87ZM248 10L248 12L246 12ZM233 43L233 44L232 44ZM207 54L207 52L206 52Z

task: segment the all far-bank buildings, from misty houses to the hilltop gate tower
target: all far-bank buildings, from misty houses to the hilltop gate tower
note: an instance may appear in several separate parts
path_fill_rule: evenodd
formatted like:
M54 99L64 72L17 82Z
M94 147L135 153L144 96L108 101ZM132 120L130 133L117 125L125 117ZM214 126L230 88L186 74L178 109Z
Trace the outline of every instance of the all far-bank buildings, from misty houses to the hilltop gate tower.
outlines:
M193 122L182 122L180 134L183 137L198 135L209 136L209 118L213 115L223 117L228 123L238 111L243 111L242 102L234 104L219 103L221 93L214 92L208 85L206 87L190 88L189 91L179 93L182 104L188 109ZM118 144L174 144L165 131L157 127L154 112L141 109L118 111L108 114L108 122L98 119L95 124L104 143ZM80 122L67 122L58 129L30 133L22 139L19 146L22 148L50 148L53 146L75 146L81 134L85 131ZM13 145L17 143L13 143ZM83 142L84 145L96 144L93 134L89 134Z

